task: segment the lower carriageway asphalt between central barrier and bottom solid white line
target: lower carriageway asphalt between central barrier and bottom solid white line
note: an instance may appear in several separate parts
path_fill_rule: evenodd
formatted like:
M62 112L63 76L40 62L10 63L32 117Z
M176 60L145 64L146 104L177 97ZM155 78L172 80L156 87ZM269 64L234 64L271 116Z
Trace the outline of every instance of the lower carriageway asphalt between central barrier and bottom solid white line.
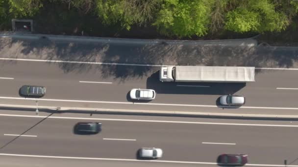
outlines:
M287 160L293 162L291 165L298 165L295 161L297 122L292 124L283 121L272 125L266 121L242 120L242 124L248 125L228 125L238 123L233 120L225 120L227 123L224 123L215 119L214 125L208 125L195 124L191 118L172 118L188 122L177 123L160 120L166 118L154 122L153 117L143 116L125 121L114 119L113 115L93 115L91 118L87 114L64 116L41 113L46 116L44 118L32 114L29 117L30 112L24 113L28 117L1 111L1 114L4 113L12 115L0 116L0 126L7 127L0 129L1 154L133 160L140 147L160 147L164 151L160 161L216 163L221 153L246 153L249 155L249 164L282 165ZM85 119L101 122L102 131L96 135L74 134L73 126ZM195 122L207 123L206 120L198 119ZM9 136L13 134L25 136Z

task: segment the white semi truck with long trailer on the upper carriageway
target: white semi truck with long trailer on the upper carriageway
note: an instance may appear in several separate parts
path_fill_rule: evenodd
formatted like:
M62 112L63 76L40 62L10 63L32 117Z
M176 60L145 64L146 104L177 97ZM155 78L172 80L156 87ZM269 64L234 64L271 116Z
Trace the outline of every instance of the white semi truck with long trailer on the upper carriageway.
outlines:
M164 66L161 82L246 83L254 82L254 67Z

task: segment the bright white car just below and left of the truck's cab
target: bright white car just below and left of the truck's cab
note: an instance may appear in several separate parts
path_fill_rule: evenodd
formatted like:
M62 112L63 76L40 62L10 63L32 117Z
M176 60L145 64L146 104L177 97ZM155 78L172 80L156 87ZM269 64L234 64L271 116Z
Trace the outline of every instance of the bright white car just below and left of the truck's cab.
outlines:
M155 99L155 91L152 89L131 89L130 98L138 100L153 100Z

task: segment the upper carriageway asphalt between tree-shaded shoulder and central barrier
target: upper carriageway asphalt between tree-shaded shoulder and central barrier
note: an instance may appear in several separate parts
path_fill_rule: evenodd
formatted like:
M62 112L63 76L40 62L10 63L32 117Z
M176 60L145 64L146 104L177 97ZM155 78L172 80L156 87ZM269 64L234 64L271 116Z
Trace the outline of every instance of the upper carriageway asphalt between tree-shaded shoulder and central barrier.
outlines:
M89 65L87 71L65 72L60 63L0 61L1 102L5 104L35 105L34 100L24 100L18 94L24 84L43 85L47 94L39 105L59 107L91 107L108 109L199 111L249 114L296 114L298 71L262 70L256 74L255 83L242 84L200 84L162 83L158 80L158 67L152 67L144 76L103 76L102 65ZM17 68L16 68L17 66ZM130 68L130 66L125 66ZM145 67L134 67L144 70ZM36 70L38 69L38 70ZM81 81L81 82L80 82ZM83 83L101 82L101 83ZM205 85L210 87L189 87L177 85ZM157 93L151 102L131 101L128 93L132 88L151 88ZM240 108L218 107L218 98L224 94L246 96L246 104ZM12 98L12 99L9 99ZM18 99L20 98L20 99ZM134 104L132 103L134 102Z

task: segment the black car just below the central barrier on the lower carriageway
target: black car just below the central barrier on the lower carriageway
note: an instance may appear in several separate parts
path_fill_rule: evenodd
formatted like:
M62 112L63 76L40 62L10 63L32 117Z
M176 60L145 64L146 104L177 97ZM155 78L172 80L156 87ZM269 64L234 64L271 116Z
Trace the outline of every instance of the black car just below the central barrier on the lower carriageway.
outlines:
M101 123L77 123L75 125L75 133L96 134L101 131Z

